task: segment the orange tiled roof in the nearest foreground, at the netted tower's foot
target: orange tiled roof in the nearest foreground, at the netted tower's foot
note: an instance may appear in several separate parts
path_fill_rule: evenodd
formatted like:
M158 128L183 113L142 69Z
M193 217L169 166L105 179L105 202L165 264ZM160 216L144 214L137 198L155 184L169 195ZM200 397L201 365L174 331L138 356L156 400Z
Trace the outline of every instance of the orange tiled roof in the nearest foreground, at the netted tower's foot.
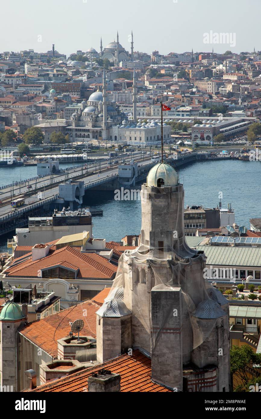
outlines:
M171 392L162 385L151 381L151 360L139 351L134 351L132 356L121 355L114 360L105 362L99 367L76 372L52 383L40 385L31 392L86 392L88 377L93 372L105 368L121 376L121 391L123 392Z

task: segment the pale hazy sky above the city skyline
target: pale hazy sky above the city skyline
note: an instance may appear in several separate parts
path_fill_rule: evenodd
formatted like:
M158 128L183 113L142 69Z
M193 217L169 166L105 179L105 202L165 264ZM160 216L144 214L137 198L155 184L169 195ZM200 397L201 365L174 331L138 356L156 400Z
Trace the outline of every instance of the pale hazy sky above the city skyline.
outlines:
M117 30L125 49L130 51L133 30L134 50L149 54L192 47L194 52L260 50L260 12L261 0L2 0L0 52L46 52L53 43L66 55L90 47L99 51L101 36L105 47ZM211 31L230 33L232 42L213 44Z

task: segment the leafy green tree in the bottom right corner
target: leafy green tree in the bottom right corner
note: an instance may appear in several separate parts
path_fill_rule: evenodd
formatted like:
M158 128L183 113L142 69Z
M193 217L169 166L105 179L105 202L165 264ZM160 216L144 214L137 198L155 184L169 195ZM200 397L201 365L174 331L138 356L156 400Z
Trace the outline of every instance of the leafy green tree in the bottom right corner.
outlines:
M250 385L255 385L253 381L261 384L261 354L254 353L249 345L233 346L230 349L230 371L234 391L249 392Z

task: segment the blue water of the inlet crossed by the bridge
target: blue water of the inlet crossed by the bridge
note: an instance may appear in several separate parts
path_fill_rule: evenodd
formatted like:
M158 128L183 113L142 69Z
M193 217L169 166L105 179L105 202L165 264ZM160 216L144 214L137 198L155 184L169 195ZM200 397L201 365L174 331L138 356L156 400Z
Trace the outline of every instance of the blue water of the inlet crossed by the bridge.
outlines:
M21 168L23 171L24 168ZM5 184L13 174L19 174L20 168L3 169L0 183ZM29 173L30 171L30 173ZM24 172L22 172L24 173ZM8 174L8 176L7 176ZM4 176L4 178L2 178ZM36 176L36 168L26 168L26 175ZM184 183L186 205L203 205L214 208L222 192L222 207L231 203L235 210L235 222L250 227L249 219L261 217L260 179L261 163L240 160L222 160L198 162L184 166L179 171L180 181ZM5 183L3 183L5 182ZM113 192L88 192L84 204L93 209L103 209L103 217L93 218L93 234L96 238L120 241L127 234L140 234L140 201L115 201ZM6 248L7 238L13 233L0 238L0 249Z

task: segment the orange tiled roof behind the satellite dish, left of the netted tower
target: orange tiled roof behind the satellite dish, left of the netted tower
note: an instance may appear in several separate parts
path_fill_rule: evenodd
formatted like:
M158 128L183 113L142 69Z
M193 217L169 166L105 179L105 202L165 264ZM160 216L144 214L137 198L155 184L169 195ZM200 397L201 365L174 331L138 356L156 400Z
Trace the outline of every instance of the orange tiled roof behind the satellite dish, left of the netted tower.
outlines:
M101 305L101 303L85 301L53 316L28 323L20 330L20 333L57 359L57 340L69 335L71 330L69 322L82 318L84 326L81 335L96 338L96 311ZM85 313L83 310L87 310L87 316L83 316Z

